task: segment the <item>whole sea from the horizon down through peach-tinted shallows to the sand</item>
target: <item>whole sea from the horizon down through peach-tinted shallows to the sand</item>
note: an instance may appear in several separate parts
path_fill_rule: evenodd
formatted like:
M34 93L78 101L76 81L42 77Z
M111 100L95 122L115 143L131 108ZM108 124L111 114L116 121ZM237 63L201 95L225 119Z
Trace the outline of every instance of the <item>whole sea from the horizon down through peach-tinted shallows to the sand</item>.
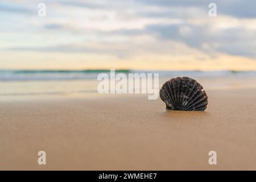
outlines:
M110 70L1 70L0 99L35 96L89 96L97 93L97 76ZM159 87L177 76L195 78L204 89L256 88L256 71L137 71L115 73L159 73Z

